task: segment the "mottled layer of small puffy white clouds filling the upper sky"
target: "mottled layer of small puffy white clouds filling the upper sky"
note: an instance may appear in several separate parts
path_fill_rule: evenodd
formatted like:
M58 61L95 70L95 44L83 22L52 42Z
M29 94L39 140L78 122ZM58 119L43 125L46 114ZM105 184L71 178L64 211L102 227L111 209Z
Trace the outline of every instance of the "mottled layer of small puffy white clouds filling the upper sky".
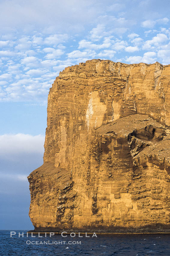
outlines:
M168 64L168 7L158 15L147 11L154 0L128 3L1 3L0 101L44 102L61 70L88 59Z

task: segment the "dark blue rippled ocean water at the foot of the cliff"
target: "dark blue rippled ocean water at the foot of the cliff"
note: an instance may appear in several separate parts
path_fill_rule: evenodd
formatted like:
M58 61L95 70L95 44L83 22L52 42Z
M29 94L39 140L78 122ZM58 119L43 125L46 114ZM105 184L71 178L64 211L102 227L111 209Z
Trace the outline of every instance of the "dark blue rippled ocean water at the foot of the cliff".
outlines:
M31 234L26 237L28 230L11 230L16 235L10 237L10 230L0 231L0 255L10 256L98 256L98 255L170 255L170 234L119 234L103 235L97 237L62 237L55 235L51 238L49 234L43 238L31 238ZM18 237L18 232L24 232L24 237ZM33 234L34 235L34 234ZM38 241L37 245L34 244ZM46 242L48 244L40 244ZM75 241L75 242L73 242ZM79 244L77 244L77 241ZM60 244L54 244L60 242ZM61 244L62 242L62 244ZM80 244L81 242L81 244ZM27 244L33 243L33 244ZM53 244L52 244L53 243ZM76 244L75 244L76 243Z

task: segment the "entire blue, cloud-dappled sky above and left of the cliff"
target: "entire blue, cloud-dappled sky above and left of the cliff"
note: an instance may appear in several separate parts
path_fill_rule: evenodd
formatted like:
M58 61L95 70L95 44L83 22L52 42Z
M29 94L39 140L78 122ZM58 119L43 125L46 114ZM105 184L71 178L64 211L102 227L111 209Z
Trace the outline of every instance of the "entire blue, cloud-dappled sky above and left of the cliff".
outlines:
M167 0L0 0L0 229L33 229L49 88L89 59L170 64Z

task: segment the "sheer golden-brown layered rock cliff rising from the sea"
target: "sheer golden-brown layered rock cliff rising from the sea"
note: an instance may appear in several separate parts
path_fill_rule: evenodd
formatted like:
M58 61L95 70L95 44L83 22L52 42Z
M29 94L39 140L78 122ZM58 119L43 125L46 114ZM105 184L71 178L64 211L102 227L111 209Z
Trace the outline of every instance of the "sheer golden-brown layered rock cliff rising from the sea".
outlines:
M30 182L35 230L170 230L170 65L91 60L48 97L44 164Z

